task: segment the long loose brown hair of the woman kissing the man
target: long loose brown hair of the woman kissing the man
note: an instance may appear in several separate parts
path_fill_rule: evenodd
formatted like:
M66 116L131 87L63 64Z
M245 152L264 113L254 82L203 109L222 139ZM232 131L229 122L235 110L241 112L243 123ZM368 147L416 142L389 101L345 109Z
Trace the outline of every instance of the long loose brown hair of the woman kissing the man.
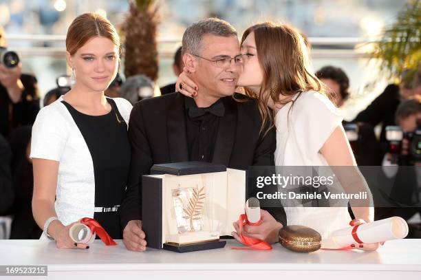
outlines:
M257 100L262 118L260 131L267 133L274 127L274 111L268 107L270 98L275 105L285 105L294 100L283 102L280 95L294 96L309 90L324 94L324 90L310 70L310 45L299 31L286 24L258 23L244 32L241 45L252 32L263 81L258 94L250 89L245 89L245 94ZM269 94L264 94L266 92Z

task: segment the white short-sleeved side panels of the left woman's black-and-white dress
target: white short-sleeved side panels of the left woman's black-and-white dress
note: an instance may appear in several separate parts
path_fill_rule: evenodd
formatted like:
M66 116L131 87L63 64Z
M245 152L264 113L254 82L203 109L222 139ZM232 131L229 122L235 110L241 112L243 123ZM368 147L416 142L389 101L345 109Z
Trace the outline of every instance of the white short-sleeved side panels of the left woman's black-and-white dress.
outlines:
M124 98L113 99L129 125L131 103ZM94 217L95 180L91 153L62 100L61 96L36 116L30 158L60 162L55 209L58 219L68 225L82 217Z

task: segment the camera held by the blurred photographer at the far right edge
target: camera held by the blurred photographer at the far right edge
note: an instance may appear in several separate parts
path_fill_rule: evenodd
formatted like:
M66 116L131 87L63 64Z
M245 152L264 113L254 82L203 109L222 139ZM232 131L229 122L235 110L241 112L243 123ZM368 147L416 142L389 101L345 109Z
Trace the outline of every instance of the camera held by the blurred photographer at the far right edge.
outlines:
M408 153L402 154L402 140L408 140ZM417 120L415 131L403 132L398 126L386 127L387 150L391 153L391 163L413 165L421 162L421 120Z

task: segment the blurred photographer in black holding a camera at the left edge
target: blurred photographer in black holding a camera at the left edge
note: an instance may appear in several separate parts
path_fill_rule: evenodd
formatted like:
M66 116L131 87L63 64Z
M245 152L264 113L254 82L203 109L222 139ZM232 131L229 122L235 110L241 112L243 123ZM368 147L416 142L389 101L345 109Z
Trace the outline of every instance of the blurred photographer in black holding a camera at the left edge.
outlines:
M12 129L32 125L39 107L36 78L22 74L19 56L6 48L0 26L0 133L8 138Z

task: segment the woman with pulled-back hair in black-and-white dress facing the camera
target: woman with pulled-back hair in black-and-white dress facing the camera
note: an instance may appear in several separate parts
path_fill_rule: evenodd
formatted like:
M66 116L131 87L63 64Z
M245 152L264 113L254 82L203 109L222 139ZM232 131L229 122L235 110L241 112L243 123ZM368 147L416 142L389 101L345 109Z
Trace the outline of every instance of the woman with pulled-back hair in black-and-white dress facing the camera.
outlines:
M121 239L118 207L129 171L132 106L104 95L120 55L118 34L107 19L92 13L77 17L67 30L66 49L76 83L36 117L32 209L44 230L41 239L54 239L58 248L89 248L69 237L69 228L83 217Z

